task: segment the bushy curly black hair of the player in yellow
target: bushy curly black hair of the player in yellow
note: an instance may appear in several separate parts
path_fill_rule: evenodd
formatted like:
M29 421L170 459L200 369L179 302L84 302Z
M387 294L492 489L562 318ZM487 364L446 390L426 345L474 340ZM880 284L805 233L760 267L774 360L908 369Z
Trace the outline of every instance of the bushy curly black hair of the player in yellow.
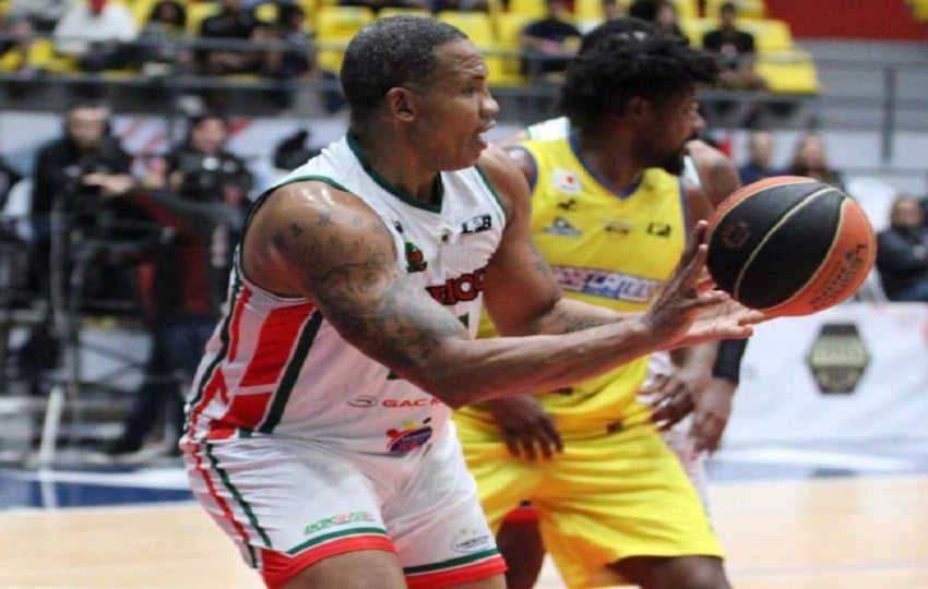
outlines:
M614 35L578 55L567 67L560 108L572 128L595 129L602 118L622 115L633 97L654 105L685 96L718 75L715 58L675 35Z

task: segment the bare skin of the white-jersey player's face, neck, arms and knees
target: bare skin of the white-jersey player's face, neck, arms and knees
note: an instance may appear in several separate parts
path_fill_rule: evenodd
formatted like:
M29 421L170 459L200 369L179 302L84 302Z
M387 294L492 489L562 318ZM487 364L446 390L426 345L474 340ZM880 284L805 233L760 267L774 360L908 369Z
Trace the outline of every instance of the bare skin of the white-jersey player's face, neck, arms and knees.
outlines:
M471 339L397 269L380 217L323 182L284 185L257 209L241 250L251 281L308 299L347 341L451 407L567 385L657 349L750 335L750 324L763 316L703 280L706 252L698 244L704 226L647 313L621 316L561 297L531 239L524 178L480 137L498 110L483 58L463 40L436 53L431 79L391 88L369 119L353 121L353 134L385 181L424 202L431 202L439 171L483 166L508 212L487 267L485 302L509 337ZM459 587L503 585L498 575ZM313 564L284 585L309 587L398 589L405 581L395 555L358 551Z

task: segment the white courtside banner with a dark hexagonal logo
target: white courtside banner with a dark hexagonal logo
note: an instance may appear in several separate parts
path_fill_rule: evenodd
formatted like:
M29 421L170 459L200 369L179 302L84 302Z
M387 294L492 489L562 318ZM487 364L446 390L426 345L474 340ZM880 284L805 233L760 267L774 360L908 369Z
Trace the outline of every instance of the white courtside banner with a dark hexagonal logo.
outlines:
M928 438L928 304L845 303L759 325L726 444Z

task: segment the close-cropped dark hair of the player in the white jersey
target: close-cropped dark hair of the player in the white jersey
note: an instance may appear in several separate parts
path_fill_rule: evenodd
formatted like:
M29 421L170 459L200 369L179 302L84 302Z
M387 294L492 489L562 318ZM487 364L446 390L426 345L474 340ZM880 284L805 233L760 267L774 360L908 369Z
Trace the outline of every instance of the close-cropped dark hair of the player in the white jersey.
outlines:
M466 39L429 16L386 16L364 27L348 43L340 74L353 124L365 121L390 88L427 83L438 65L436 49Z

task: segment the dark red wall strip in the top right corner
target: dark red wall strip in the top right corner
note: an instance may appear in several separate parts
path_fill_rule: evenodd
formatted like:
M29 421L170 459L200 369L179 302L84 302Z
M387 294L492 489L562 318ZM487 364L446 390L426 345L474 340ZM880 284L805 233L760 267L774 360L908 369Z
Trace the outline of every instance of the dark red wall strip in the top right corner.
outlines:
M768 15L789 23L796 38L926 40L905 0L764 0Z

